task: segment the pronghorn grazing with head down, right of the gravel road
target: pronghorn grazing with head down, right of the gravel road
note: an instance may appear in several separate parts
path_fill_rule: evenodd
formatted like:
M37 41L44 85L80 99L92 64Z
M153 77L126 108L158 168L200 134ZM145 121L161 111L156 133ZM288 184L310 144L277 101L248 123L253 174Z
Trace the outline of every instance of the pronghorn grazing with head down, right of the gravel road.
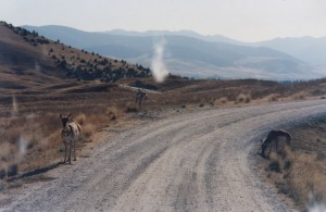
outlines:
M266 137L266 139L262 142L262 155L265 158L265 151L267 149L267 147L269 146L269 152L268 152L268 157L271 154L272 148L273 148L273 144L275 145L275 151L278 151L278 141L285 141L287 145L290 145L290 141L292 139L292 136L283 129L279 130L271 130Z

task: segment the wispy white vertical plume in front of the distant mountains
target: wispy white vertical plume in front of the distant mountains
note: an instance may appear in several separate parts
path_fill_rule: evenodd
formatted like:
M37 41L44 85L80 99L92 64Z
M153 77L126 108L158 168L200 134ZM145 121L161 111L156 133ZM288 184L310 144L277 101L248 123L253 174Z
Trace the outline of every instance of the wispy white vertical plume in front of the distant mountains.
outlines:
M164 57L164 39L161 39L155 46L154 46L154 57L152 59L152 71L153 76L158 83L163 83L164 79L168 75L168 70L166 68L163 57Z

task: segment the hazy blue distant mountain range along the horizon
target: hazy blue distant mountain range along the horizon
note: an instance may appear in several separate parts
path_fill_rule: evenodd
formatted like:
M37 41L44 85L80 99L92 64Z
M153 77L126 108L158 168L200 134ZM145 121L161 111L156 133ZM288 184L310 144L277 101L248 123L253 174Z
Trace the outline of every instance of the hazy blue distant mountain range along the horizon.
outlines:
M181 32L88 33L64 26L23 26L90 52L150 66L158 45L170 72L200 78L308 79L326 76L326 37L246 43ZM323 71L324 68L324 71Z

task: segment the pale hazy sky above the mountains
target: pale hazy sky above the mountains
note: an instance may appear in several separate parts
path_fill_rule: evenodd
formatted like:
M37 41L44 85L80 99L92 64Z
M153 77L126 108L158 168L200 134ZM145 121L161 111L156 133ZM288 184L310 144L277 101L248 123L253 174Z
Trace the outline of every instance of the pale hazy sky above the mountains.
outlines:
M326 36L326 0L0 0L13 25L179 30L241 41Z

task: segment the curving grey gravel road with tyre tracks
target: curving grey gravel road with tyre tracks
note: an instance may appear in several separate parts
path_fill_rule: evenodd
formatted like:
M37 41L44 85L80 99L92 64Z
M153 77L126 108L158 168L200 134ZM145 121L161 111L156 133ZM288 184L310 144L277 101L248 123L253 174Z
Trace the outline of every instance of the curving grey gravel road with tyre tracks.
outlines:
M326 101L185 112L117 134L1 211L290 211L261 182L259 139L326 114ZM105 139L105 138L103 138ZM108 139L108 138L106 138Z

